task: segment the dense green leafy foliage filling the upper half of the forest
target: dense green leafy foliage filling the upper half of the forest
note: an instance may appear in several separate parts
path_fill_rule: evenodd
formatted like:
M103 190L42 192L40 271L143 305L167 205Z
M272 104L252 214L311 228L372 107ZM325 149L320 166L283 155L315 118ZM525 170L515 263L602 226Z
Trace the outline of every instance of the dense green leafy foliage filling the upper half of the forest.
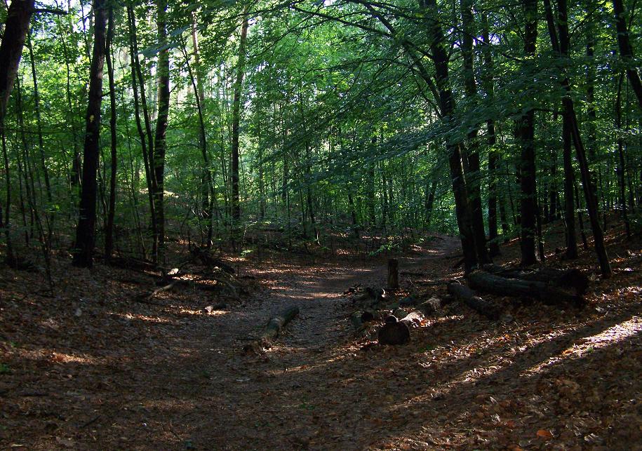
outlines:
M16 2L1 13L7 28ZM431 228L460 233L464 250L476 246L469 264L486 260L487 234L491 255L497 240L521 236L533 243L523 247L528 263L535 243L544 257L545 222L566 220L569 248L575 227L596 234L611 210L639 230L635 7L628 0L36 4L2 113L7 252L34 242L45 257L51 248L81 247L81 234L73 237L83 189L98 199L97 247L155 260L166 237L242 250L266 228L322 245L330 233ZM88 99L101 53L96 12L108 10L100 121ZM96 119L98 184L88 194L82 173ZM87 211L81 204L81 218Z

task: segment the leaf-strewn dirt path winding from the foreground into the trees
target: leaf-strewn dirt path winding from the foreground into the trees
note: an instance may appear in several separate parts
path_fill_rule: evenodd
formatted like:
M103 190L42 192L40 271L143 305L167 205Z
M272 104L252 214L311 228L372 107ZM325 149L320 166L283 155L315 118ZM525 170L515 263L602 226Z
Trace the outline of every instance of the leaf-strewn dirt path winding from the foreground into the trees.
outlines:
M429 249L417 248L401 259L400 271L417 271L457 248L454 238L437 239ZM194 443L215 443L217 437L225 437L222 447L236 449L290 449L315 440L319 447L335 449L367 443L369 438L356 436L351 426L352 419L359 419L352 410L362 389L347 382L359 374L351 374L345 361L354 349L348 349L352 330L342 292L356 283L384 285L387 267L268 264L252 273L271 288L262 293L262 302L220 316L212 325L218 354L204 364L216 389L205 389L201 396L215 398L210 400L218 415L190 431ZM257 325L292 304L301 314L274 349L258 357L230 355L229 349L239 349L239 337L253 335ZM337 400L341 396L344 402ZM326 403L337 407L328 409ZM331 437L328 427L335 429Z

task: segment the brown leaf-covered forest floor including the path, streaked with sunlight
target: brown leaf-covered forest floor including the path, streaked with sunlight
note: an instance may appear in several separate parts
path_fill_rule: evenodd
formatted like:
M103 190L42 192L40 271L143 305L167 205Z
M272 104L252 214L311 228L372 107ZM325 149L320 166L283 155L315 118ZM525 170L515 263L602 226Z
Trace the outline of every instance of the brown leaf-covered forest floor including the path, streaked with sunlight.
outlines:
M0 448L642 449L642 248L609 237L608 281L586 251L549 259L589 271L584 309L488 297L503 309L490 321L452 302L403 346L349 323L343 293L383 286L381 259L234 262L256 288L219 309L192 289L137 302L152 276L64 256L54 297L42 274L3 267ZM446 295L458 249L435 235L401 255L399 295ZM498 262L518 251L504 245ZM243 355L293 304L274 346Z

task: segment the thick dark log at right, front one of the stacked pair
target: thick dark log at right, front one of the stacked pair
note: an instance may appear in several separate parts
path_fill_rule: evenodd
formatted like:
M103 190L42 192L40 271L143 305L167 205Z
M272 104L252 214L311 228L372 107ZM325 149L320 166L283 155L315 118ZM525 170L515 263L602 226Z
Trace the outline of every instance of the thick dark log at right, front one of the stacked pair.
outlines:
M584 300L580 295L569 293L557 286L538 281L526 281L521 278L495 276L486 271L472 271L467 276L468 283L474 290L500 296L524 296L540 299L545 304L572 304L581 306Z

